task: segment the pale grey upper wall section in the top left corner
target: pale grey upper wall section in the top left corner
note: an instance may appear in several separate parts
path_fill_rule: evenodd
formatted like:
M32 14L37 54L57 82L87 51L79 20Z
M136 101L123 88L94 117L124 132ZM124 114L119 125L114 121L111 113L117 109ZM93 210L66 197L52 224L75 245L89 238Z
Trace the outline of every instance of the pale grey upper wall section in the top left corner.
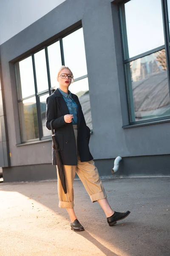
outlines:
M65 0L0 0L0 44Z

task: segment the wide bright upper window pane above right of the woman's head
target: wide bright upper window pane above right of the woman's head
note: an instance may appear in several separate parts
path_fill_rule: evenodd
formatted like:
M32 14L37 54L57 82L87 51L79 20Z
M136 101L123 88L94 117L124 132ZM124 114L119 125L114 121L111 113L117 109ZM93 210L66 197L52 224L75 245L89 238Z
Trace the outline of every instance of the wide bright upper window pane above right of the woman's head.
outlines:
M87 75L83 30L78 29L62 39L65 66L73 72L74 79Z

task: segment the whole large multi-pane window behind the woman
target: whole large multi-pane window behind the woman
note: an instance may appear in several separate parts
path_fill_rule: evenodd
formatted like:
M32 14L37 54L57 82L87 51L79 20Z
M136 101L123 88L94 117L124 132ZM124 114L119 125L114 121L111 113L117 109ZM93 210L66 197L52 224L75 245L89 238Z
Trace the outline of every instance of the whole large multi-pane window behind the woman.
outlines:
M51 136L46 126L46 99L57 87L57 71L68 66L74 74L69 90L77 94L87 125L92 129L88 75L83 30L58 38L15 64L21 140L44 140Z

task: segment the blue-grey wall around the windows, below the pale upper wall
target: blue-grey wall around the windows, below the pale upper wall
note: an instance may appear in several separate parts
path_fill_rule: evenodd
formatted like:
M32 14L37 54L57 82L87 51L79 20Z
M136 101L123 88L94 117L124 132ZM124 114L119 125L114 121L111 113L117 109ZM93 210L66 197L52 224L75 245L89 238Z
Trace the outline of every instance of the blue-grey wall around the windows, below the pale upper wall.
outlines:
M88 68L93 124L90 148L94 159L170 154L168 122L122 128L128 124L128 116L117 11L110 0L66 0L0 46L11 166L51 163L51 142L16 146L20 143L20 128L14 69L9 61L27 55L42 42L68 31L69 26L79 25L80 20Z

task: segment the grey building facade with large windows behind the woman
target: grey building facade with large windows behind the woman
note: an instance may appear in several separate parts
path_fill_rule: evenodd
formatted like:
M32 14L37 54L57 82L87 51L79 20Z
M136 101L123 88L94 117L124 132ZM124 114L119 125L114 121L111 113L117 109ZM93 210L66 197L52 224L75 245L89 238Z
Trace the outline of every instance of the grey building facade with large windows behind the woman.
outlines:
M73 71L100 176L117 156L116 176L170 175L170 0L54 2L31 13L30 1L16 30L1 28L4 181L56 178L45 102L61 65Z

